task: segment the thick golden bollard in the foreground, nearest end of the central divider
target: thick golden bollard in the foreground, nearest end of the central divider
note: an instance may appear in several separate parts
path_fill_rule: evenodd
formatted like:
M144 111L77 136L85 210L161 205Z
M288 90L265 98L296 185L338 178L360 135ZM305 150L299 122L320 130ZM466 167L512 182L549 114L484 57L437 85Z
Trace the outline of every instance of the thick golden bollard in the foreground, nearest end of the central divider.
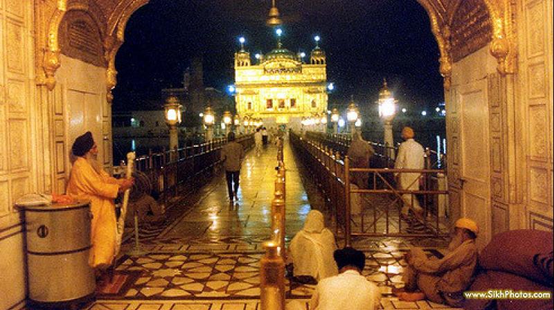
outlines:
M285 310L285 261L274 241L265 241L265 256L260 259L261 310Z

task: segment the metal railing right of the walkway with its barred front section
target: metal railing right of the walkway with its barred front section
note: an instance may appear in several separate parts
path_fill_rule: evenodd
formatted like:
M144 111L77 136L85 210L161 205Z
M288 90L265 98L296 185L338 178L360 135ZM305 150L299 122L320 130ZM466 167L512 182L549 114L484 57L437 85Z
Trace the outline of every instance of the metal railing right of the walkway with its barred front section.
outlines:
M348 156L341 156L338 150L312 140L308 135L303 138L291 133L290 137L296 156L313 172L311 176L332 210L336 233L342 230L347 244L356 235L434 237L447 233L440 203L444 202L448 192L439 189L439 182L434 181L440 181L445 170L353 168ZM421 189L397 189L395 176L400 173L419 174L415 181L422 180ZM358 188L353 185L351 180L355 174L368 174L370 186ZM400 212L403 204L413 207L419 201L418 196L425 216L403 218Z

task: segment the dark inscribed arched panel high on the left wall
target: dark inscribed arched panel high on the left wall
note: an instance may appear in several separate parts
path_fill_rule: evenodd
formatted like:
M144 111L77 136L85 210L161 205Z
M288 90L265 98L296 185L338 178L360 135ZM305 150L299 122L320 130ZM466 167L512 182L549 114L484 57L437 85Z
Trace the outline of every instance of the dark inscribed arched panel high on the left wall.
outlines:
M58 32L62 54L95 66L106 66L100 28L86 12L67 12Z

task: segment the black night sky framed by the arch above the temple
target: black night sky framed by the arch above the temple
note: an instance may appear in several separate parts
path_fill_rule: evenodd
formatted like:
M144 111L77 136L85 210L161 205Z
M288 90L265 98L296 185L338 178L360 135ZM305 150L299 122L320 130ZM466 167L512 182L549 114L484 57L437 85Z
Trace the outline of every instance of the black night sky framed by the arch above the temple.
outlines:
M337 91L330 104L377 100L382 78L402 106L434 107L443 101L438 46L427 12L415 0L277 0L283 46L314 48L321 36L328 81ZM116 57L113 109L140 109L160 90L181 87L195 55L204 57L204 85L233 83L233 53L246 37L251 55L276 47L265 26L270 0L150 0L132 15Z

